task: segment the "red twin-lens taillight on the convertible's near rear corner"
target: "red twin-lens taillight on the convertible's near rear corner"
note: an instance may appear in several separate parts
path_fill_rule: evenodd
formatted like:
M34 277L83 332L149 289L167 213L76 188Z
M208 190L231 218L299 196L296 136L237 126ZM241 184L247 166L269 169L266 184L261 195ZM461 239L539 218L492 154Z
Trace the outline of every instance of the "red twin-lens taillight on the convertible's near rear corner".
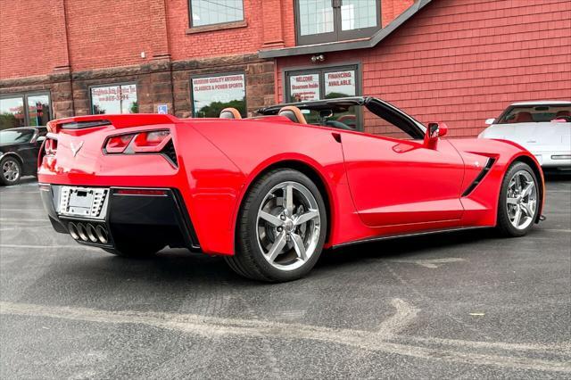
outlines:
M148 130L124 135L110 136L103 145L105 154L161 154L175 167L178 166L172 136L169 130Z

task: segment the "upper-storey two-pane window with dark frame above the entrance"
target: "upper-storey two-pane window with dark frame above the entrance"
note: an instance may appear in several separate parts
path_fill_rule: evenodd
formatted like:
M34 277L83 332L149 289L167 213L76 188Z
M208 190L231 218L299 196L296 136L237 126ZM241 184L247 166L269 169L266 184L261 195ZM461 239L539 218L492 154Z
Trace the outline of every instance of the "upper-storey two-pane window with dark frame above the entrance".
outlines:
M295 0L298 45L370 37L380 28L379 0Z

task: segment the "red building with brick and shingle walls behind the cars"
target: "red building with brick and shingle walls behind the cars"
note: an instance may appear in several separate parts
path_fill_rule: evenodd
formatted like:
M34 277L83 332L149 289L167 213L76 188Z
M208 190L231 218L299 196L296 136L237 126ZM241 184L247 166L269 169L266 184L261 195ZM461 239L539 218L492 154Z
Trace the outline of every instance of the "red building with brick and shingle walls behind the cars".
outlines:
M568 0L0 0L0 21L3 128L377 95L475 136L571 98Z

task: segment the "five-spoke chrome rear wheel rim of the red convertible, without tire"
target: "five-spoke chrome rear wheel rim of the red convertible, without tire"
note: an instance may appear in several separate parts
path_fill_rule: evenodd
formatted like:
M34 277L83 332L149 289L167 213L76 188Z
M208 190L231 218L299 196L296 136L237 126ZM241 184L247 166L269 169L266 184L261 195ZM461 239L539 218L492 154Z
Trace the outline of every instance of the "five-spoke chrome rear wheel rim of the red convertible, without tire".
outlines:
M321 233L318 202L310 190L297 182L274 186L261 202L257 238L269 264L294 270L310 260Z

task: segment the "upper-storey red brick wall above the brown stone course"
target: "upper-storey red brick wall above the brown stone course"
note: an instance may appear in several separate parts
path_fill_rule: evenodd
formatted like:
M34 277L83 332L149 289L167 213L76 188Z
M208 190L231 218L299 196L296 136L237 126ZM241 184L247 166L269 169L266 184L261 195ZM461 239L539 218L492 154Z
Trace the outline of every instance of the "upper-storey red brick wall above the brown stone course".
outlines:
M294 0L281 0L281 8L280 0L265 1L278 6L244 0L244 28L187 34L188 0L0 0L0 78L43 75L68 65L63 4L73 71L137 65L169 49L175 61L252 54L265 37L275 39L277 28L283 45L294 46ZM412 2L383 0L383 24Z

